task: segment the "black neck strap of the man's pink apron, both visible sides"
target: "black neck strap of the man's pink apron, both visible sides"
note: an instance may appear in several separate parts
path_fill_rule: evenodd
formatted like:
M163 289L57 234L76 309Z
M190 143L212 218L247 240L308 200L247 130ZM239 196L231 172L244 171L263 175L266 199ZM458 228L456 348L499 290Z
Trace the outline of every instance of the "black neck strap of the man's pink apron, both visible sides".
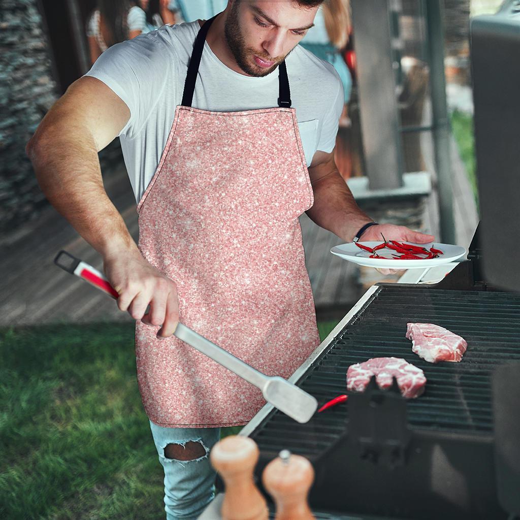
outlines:
M204 50L204 42L206 41L207 32L210 30L211 24L217 15L207 20L199 30L195 43L193 44L193 52L191 54L188 72L186 74L186 81L184 82L183 100L181 106L191 107L193 102L193 93L195 92L195 83L197 82L197 75L199 73L200 60L202 58L202 51ZM279 81L279 98L278 106L281 108L291 108L291 92L289 89L289 78L287 77L287 68L285 67L285 60L278 66L278 81Z

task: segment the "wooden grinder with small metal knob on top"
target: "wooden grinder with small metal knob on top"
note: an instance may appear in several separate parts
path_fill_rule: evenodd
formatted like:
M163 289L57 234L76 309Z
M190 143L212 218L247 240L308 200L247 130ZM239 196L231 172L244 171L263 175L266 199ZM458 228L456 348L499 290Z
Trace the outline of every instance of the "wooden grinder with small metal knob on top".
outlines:
M300 455L288 450L265 467L262 482L276 503L275 520L315 520L307 502L314 481L314 468Z

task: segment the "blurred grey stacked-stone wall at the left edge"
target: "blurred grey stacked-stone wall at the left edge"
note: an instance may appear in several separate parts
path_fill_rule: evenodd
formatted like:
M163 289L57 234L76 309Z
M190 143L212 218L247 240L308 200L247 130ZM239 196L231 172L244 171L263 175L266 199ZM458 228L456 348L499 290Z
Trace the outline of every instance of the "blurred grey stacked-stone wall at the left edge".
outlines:
M57 99L36 0L0 0L0 233L47 205L25 144Z

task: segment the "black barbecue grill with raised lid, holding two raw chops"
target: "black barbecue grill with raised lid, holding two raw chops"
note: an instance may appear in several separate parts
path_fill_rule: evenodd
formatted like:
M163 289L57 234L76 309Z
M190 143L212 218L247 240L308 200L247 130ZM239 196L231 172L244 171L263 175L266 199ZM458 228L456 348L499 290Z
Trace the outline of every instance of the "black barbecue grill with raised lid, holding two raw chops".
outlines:
M520 291L520 271L517 254L514 262L500 257L512 254L520 222L520 168L511 153L520 135L520 61L511 59L520 55L520 2L475 19L472 38L483 220L467 260L436 285L371 287L290 379L322 405L346 392L348 366L394 356L424 371L425 393L406 400L395 381L381 391L372 380L306 424L266 406L241 432L259 447L261 489L280 450L313 463L309 503L320 520L520 517L520 293L512 292ZM413 354L408 322L464 337L462 361L432 364Z

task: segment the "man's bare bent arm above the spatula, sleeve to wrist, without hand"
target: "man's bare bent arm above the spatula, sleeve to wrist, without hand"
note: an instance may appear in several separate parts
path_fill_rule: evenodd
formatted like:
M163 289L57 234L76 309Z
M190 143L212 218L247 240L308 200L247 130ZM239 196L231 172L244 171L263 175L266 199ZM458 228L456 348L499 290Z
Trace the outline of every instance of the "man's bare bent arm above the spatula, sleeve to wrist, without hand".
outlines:
M103 187L98 159L129 117L110 88L82 77L49 110L26 148L48 201L103 256L136 248Z

